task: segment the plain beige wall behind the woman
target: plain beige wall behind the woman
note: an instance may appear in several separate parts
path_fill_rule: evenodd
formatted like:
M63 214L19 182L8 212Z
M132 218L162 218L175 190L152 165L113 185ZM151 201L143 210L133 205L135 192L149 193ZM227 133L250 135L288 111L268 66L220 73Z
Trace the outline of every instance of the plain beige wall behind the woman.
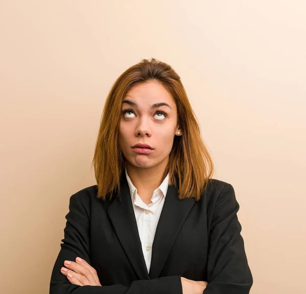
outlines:
M306 3L0 2L0 292L48 293L71 194L115 79L141 58L182 77L216 179L236 191L252 294L305 286Z

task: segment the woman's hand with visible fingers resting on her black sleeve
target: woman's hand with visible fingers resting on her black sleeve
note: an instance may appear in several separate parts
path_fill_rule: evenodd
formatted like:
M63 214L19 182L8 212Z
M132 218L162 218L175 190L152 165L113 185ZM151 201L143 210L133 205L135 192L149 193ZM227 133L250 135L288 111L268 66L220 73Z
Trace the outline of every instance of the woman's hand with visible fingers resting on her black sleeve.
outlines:
M101 286L96 270L84 259L75 258L74 261L65 260L61 273L67 277L71 284L80 286Z

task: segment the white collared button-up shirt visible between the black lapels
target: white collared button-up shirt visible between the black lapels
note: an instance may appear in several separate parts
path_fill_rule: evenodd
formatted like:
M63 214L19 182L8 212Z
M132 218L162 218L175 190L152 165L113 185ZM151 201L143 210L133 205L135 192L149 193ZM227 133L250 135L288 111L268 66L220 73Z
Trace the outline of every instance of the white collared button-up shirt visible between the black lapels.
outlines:
M167 174L167 177L164 179L163 183L156 190L154 190L151 198L152 203L148 205L146 205L137 194L137 189L127 174L126 167L125 175L127 183L130 187L142 252L149 273L152 256L152 244L168 190L169 173Z

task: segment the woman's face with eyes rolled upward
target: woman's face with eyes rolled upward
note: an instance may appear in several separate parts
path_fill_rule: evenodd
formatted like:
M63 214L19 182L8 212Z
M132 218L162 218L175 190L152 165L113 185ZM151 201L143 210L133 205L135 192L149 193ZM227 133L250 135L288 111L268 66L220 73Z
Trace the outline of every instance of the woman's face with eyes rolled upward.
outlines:
M163 104L163 105L155 105ZM133 86L122 100L119 144L128 165L166 167L177 126L177 109L172 95L157 81ZM134 149L146 143L153 150Z

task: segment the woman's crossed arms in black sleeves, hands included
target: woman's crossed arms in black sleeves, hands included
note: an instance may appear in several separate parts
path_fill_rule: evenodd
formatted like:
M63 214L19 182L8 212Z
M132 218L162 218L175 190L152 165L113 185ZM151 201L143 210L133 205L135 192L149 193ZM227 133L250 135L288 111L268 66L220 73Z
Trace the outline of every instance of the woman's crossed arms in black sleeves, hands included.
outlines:
M72 195L65 228L69 234L65 232L64 243L61 244L52 273L49 294L248 294L253 280L240 234L241 225L237 218L239 204L232 185L226 184L223 187L213 207L207 282L170 276L136 280L130 286L103 286L95 269L90 266L89 246L83 242L88 240L85 235L89 231L89 222L82 231L78 231L78 226L75 226L78 221L86 223L88 216L81 201L75 194ZM82 256L83 260L78 261L78 256ZM65 264L65 260L71 263ZM67 271L63 271L63 268ZM63 280L60 275L67 279Z

